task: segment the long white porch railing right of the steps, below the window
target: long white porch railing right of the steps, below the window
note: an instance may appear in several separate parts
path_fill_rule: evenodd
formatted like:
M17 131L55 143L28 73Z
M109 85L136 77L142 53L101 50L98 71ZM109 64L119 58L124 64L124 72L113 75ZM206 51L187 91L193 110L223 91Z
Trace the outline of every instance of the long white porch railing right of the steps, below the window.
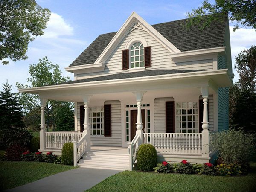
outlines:
M144 143L164 154L202 154L201 133L144 133Z

